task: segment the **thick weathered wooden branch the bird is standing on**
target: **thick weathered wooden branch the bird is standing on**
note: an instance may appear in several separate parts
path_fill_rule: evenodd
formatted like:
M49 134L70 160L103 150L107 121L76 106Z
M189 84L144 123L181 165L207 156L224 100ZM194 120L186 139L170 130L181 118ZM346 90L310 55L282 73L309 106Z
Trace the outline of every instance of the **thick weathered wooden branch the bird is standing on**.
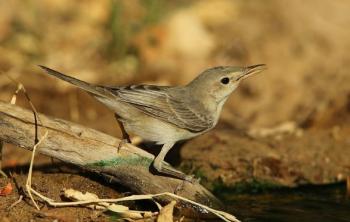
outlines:
M119 139L65 120L39 114L39 137L48 137L37 151L84 169L103 174L140 194L174 192L213 208L220 202L198 183L159 176L150 172L154 156L133 145L125 144L118 152ZM34 146L32 111L0 101L0 140L32 150ZM168 201L168 200L163 200ZM186 209L188 210L188 209Z

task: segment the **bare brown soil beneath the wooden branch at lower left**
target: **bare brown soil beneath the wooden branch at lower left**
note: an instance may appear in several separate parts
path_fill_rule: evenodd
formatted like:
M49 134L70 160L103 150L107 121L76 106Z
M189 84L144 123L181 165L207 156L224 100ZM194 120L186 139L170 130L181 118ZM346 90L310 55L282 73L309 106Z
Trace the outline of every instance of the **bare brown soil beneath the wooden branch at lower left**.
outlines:
M60 200L62 188L75 187L84 192L98 193L104 198L118 197L120 194L113 188L101 185L101 181L89 179L87 175L71 173L41 173L41 170L33 175L34 189L48 195L48 197ZM1 186L10 182L16 184L20 189L1 200L1 221L110 221L110 217L100 211L93 211L87 207L47 207L40 204L40 211L36 210L31 200L24 194L23 188L26 181L26 173L13 174L11 179L2 179ZM18 187L18 188L19 188ZM17 187L16 187L17 188ZM9 209L20 195L25 196L23 201Z

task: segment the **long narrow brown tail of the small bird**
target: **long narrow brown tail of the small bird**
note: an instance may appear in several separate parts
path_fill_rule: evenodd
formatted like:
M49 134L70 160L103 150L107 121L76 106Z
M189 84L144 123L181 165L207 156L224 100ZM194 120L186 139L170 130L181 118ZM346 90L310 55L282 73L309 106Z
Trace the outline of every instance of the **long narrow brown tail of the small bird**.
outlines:
M73 77L70 77L70 76L67 76L63 73L60 73L60 72L57 72L53 69L50 69L46 66L42 66L42 65L39 65L42 69L44 69L48 74L52 75L52 76L55 76L59 79L62 79L66 82L69 82L95 96L100 96L100 97L107 97L107 93L106 93L106 90L103 89L103 87L99 87L99 86L96 86L96 85L92 85L90 83L87 83L87 82L84 82L84 81L81 81L79 79L76 79L76 78L73 78Z

